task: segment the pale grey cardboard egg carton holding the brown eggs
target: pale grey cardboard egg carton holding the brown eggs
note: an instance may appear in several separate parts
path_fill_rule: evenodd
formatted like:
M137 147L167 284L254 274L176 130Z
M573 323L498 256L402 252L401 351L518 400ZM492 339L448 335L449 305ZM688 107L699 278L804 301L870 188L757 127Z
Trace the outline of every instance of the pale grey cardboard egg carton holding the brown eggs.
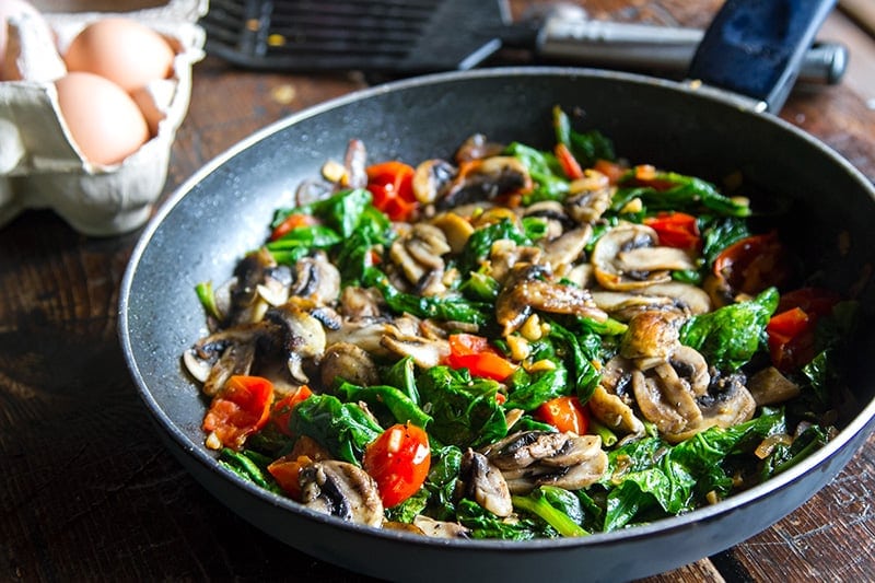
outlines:
M40 8L38 2L33 2ZM174 47L173 74L148 88L163 119L155 135L115 165L89 162L60 115L54 79L66 73L46 39L24 24L10 26L9 42L31 43L34 77L0 82L0 228L26 209L52 209L77 231L112 236L141 226L164 189L171 147L188 110L191 67L203 58L206 35L197 24L208 0L171 0L156 8L113 12L162 34ZM63 54L86 24L107 12L42 12ZM25 19L26 20L26 19ZM18 27L15 26L18 25ZM16 30L13 30L16 28ZM60 69L59 69L60 68Z

